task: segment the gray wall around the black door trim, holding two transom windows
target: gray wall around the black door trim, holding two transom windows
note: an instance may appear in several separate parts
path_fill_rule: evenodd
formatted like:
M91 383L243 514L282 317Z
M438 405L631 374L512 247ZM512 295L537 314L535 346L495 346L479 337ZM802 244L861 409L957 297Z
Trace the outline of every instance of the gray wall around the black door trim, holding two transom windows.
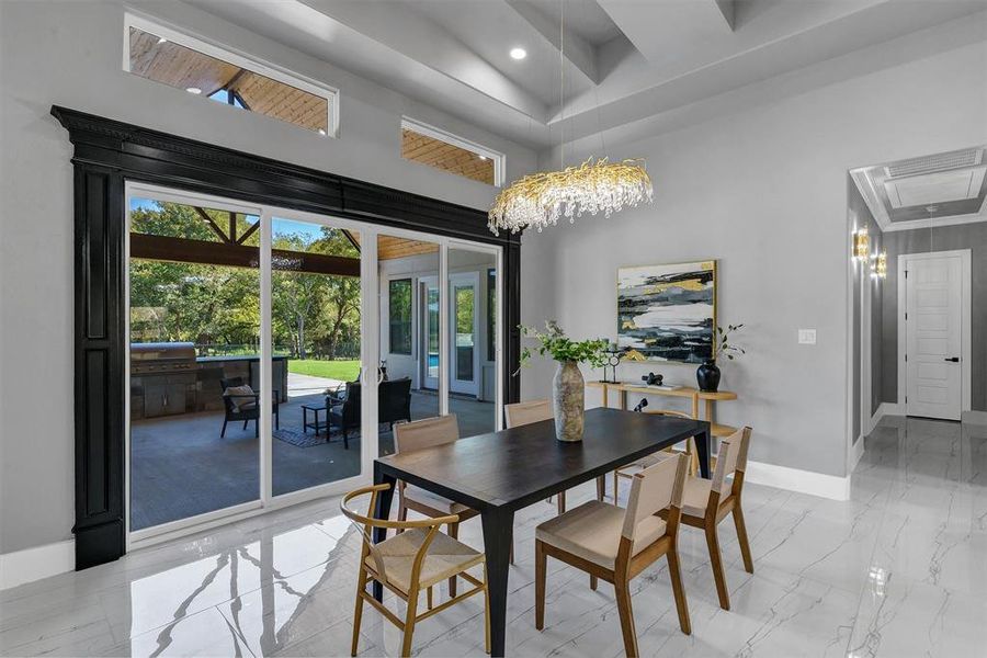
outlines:
M53 103L477 208L495 190L400 158L407 114L507 154L535 155L181 2L148 13L340 89L340 138L125 73L123 2L0 2L0 553L71 537L72 172Z

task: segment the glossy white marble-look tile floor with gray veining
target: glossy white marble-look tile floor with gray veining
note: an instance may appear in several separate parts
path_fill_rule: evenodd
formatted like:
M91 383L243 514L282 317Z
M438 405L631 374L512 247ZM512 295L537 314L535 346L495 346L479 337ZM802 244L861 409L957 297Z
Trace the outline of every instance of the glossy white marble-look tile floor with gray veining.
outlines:
M753 438L757 441L757 434ZM693 634L679 632L661 561L634 580L650 656L983 656L987 647L987 428L886 419L866 439L849 502L745 487L755 557L744 571L722 525L733 610L718 608L701 533L680 540ZM574 504L592 486L572 491ZM0 593L0 653L345 655L360 534L337 500L298 506ZM623 655L613 590L549 561L546 626L534 628L538 502L517 515L508 654ZM481 546L480 524L461 538ZM444 592L444 589L443 589ZM394 601L390 601L395 604ZM400 634L364 612L365 655ZM479 600L419 624L422 656L483 655Z

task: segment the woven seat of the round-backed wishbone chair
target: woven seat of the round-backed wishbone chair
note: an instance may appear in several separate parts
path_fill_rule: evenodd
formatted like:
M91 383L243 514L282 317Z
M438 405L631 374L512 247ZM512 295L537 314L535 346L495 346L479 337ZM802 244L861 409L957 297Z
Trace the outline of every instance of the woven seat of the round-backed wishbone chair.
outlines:
M402 592L411 589L411 567L427 534L428 529L413 527L376 545L384 561L384 577ZM435 585L483 561L483 553L438 532L422 560L418 586ZM372 555L367 555L364 563L371 571L377 572Z

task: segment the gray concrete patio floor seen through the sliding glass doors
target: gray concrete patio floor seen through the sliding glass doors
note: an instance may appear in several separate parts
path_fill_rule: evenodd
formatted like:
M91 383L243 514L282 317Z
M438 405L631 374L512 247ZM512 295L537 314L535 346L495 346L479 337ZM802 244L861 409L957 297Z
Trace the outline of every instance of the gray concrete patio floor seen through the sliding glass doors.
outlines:
M280 406L281 428L302 431L302 405L324 405L321 395L290 397ZM460 420L463 436L494 429L492 402L450 398L450 410ZM411 418L439 413L439 398L412 393ZM309 412L308 421L313 422ZM320 413L325 427L326 415ZM259 495L258 445L253 422L229 423L219 436L222 412L186 413L134 421L131 440L131 529L141 530L257 500ZM314 430L308 430L314 433ZM387 426L381 427L381 451L394 451ZM324 430L325 432L325 430ZM273 442L274 495L307 489L360 473L360 440L351 435L344 450L338 434L331 441L299 447Z

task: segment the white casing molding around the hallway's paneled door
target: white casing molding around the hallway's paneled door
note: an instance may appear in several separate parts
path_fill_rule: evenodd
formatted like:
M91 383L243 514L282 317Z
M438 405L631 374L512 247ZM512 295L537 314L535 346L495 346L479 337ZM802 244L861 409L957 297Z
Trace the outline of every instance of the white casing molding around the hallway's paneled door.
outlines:
M973 308L973 286L972 264L973 254L969 249L954 249L952 251L926 251L921 253L903 253L898 256L898 408L904 415L908 415L908 405L905 402L905 396L908 393L908 373L905 364L905 352L907 349L907 340L905 336L905 305L906 305L906 279L905 272L908 263L917 260L931 260L937 258L960 257L960 281L963 284L960 292L961 307L961 337L960 337L960 385L962 387L960 412L969 411L971 409L971 385L972 385L972 354L973 345L971 342L972 308Z

